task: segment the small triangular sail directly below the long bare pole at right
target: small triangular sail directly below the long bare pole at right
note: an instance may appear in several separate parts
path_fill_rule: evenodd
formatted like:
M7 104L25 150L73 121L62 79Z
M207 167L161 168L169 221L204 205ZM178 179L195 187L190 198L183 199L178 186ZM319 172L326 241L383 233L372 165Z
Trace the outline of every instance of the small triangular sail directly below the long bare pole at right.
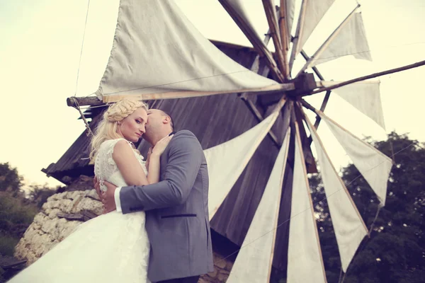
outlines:
M339 82L321 81L320 83L322 86L327 87ZM385 129L384 114L380 98L380 81L359 81L357 83L341 86L340 88L335 88L333 91Z

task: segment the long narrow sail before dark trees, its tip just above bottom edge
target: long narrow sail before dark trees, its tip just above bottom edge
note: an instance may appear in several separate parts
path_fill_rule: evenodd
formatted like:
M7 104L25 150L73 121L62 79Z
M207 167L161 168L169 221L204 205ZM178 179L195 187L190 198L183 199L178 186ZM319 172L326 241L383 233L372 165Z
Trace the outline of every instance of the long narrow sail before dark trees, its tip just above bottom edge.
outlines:
M329 205L336 242L338 243L341 267L346 272L358 246L368 233L368 229L351 200L344 182L332 165L314 126L308 120L308 117L305 117L307 118L307 126L310 129L316 147L320 175L322 175L324 192Z

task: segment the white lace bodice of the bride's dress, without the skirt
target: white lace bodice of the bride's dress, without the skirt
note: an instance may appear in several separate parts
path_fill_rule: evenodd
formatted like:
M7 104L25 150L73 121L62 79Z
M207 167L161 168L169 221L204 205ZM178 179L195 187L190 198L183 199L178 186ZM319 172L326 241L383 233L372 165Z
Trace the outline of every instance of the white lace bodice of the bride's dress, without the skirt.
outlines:
M108 141L103 141L101 147L98 150L98 154L94 162L94 174L98 178L99 183L101 183L101 190L106 190L106 186L103 186L104 180L108 181L109 183L113 183L117 187L125 187L126 185L128 185L125 183L123 175L121 175L117 164L112 158L114 146L120 140L121 139L110 139ZM128 144L128 146L131 146L130 143ZM145 171L145 174L147 174L147 169L145 166L145 161L143 161L143 156L137 154L136 151L135 156L142 165L143 171Z

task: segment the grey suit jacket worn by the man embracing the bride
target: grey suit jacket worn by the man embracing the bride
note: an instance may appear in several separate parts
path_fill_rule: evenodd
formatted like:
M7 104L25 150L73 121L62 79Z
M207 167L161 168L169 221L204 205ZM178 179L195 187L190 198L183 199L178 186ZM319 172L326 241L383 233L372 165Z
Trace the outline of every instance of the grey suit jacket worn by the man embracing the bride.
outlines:
M161 156L159 183L123 187L120 202L123 214L146 212L152 282L213 270L207 162L192 132L174 134Z

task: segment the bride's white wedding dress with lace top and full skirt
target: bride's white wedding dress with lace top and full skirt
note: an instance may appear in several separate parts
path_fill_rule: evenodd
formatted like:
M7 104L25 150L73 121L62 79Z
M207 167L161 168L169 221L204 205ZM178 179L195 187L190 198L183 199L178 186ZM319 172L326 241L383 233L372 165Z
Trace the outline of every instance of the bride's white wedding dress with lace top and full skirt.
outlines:
M118 187L125 180L113 161L113 148L120 139L104 141L94 172L102 182ZM145 161L136 154L145 173ZM13 277L10 283L150 283L147 279L149 240L145 212L116 211L97 216L77 226L39 260Z

